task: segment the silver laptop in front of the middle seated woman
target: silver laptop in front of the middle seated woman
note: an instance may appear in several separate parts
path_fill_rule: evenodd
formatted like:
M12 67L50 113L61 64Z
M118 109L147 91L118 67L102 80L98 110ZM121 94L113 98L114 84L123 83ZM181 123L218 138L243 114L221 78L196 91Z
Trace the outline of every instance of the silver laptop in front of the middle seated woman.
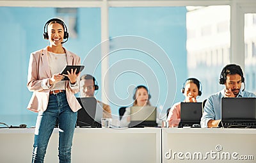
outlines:
M157 127L156 107L132 106L129 127Z

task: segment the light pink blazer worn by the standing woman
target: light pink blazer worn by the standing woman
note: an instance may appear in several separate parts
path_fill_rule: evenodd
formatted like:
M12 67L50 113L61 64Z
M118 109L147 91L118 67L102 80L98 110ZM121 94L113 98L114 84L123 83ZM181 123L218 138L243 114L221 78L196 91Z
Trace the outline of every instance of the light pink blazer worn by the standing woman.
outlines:
M67 54L67 65L80 65L81 59L76 54L65 49ZM45 49L32 52L29 59L28 67L28 89L33 91L33 95L29 101L28 109L31 111L39 112L45 111L49 102L50 89L43 89L41 84L45 79L51 78L51 72L47 57L47 47ZM44 79L44 81L43 81ZM79 83L79 77L77 77L77 83ZM77 102L74 93L79 91L77 89L71 89L69 81L66 81L66 95L67 101L72 109L76 112L81 109L81 105Z

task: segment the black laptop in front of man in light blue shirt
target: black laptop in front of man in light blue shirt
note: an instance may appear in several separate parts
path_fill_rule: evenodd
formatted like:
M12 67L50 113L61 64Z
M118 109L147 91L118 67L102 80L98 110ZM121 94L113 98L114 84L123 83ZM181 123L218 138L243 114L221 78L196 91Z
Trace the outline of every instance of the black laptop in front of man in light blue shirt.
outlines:
M225 128L255 128L256 98L221 98L221 123Z

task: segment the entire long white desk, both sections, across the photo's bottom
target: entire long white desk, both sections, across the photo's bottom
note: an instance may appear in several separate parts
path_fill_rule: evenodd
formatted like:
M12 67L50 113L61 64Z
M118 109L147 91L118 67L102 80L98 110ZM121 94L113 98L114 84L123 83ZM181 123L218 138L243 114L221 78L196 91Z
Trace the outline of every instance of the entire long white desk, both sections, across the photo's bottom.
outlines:
M33 133L33 128L1 128L0 162L31 162ZM216 146L220 147L220 151L216 150ZM228 153L230 159L227 159ZM232 158L233 153L237 160ZM241 155L246 156L247 160L241 160ZM72 146L72 163L251 163L255 160L256 129L76 128ZM45 155L45 163L52 162L58 162L57 128L54 129Z

